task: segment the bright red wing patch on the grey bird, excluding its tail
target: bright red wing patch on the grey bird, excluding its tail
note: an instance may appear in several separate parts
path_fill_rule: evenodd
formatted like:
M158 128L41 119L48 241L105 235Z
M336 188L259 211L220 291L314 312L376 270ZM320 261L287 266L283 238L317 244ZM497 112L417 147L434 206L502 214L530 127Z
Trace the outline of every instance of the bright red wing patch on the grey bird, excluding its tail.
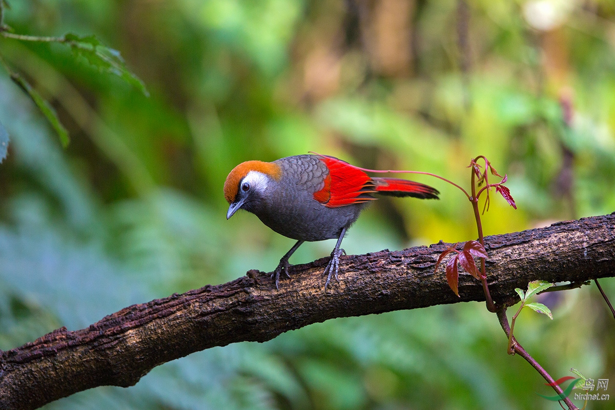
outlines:
M328 208L337 208L375 199L370 195L376 192L374 181L365 172L335 157L319 159L327 165L329 176L325 186L314 193L315 200Z

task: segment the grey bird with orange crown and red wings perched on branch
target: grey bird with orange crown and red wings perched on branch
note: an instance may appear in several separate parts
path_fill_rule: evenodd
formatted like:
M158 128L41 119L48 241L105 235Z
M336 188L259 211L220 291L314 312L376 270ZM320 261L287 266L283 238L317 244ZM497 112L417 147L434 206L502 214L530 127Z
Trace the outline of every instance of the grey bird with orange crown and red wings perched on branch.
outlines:
M338 280L339 258L346 253L340 248L344 235L361 211L377 199L373 194L438 199L440 192L407 179L372 177L362 168L320 154L242 162L224 182L224 198L229 203L226 219L237 210L246 210L273 231L297 241L271 274L277 289L280 274L290 278L288 259L301 244L337 239L323 272L326 292L331 275Z

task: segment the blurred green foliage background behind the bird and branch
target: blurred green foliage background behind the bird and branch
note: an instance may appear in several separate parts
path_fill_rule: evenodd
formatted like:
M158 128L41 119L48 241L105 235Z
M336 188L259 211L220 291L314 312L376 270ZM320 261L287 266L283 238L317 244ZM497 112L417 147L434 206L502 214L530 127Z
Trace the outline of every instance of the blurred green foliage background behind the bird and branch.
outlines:
M292 241L245 213L224 218L224 179L244 160L315 151L467 184L470 158L483 154L509 175L518 205L492 200L486 234L615 210L613 2L7 3L14 33L93 34L120 50L150 96L66 45L0 36L6 64L71 136L62 149L0 73L0 132L11 138L0 165L0 349L272 270ZM442 200L378 201L344 248L475 239L462 195L420 180ZM304 245L292 262L332 246ZM613 281L603 287L615 297ZM538 300L555 318L524 310L515 336L525 348L556 378L574 367L615 381L615 331L597 290ZM340 318L45 408L557 408L534 394L548 392L544 380L506 344L483 304Z

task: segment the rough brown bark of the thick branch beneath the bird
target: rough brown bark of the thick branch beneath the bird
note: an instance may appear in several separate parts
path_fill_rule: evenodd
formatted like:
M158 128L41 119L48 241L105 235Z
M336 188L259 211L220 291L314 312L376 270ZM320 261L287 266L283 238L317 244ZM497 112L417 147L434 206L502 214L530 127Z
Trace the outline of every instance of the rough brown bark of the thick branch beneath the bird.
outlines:
M530 231L486 237L488 282L496 303L514 288L542 279L584 282L615 276L615 213ZM34 409L100 385L134 385L154 366L198 350L280 333L336 317L436 304L484 301L480 282L459 277L456 297L438 243L341 259L339 282L323 292L327 259L294 266L276 290L268 274L250 270L223 285L126 307L87 329L60 328L1 353L0 408Z

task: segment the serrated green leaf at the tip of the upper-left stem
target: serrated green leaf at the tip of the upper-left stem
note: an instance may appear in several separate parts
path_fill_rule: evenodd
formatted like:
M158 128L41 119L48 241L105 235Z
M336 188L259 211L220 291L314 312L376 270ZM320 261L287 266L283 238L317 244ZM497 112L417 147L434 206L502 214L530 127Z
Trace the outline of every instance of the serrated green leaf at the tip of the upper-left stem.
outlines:
M77 34L66 33L64 35L64 42L70 45L75 55L84 57L90 65L95 66L100 71L106 71L121 77L125 82L133 87L137 87L138 90L149 97L145 84L126 67L120 52L105 47L96 36L77 36Z

